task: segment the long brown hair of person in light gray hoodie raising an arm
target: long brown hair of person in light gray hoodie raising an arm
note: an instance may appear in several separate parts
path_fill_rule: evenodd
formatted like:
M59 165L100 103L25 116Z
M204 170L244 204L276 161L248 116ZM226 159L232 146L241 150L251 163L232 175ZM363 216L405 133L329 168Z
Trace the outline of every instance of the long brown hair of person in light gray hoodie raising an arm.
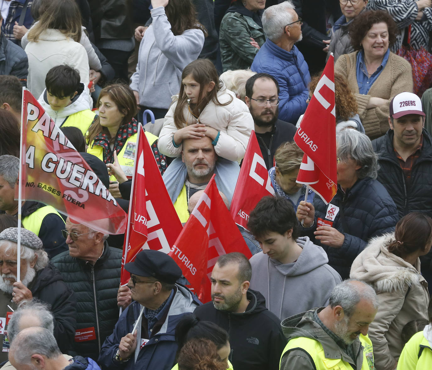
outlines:
M197 20L197 12L191 0L169 0L165 14L175 36L193 28L200 29L207 36L206 28Z

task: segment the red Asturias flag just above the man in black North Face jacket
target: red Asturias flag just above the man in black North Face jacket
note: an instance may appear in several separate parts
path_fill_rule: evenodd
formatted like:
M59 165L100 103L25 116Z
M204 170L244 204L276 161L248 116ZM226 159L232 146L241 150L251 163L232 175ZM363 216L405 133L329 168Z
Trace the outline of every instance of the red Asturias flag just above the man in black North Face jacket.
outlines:
M219 195L213 175L169 255L180 266L200 301L205 303L211 299L213 266L219 256L231 252L252 257Z

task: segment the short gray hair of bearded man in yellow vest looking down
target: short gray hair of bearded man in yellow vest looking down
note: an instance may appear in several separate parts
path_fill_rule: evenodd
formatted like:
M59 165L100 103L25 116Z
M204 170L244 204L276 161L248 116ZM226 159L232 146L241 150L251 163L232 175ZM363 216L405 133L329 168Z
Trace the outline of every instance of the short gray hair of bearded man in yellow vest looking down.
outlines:
M353 284L353 282L359 282L361 286ZM356 305L362 299L372 303L375 310L378 309L378 297L371 285L357 279L346 279L333 288L329 305L331 308L342 307L346 317L351 317L356 310Z

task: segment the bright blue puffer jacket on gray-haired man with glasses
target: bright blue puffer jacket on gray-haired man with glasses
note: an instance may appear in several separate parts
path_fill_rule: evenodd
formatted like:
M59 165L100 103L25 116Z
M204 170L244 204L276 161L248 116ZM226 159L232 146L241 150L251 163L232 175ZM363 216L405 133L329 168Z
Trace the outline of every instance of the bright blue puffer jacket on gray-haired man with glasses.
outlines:
M294 45L291 51L286 51L267 39L255 56L251 69L276 78L280 88L279 119L297 122L305 113L311 82L308 63L299 49Z

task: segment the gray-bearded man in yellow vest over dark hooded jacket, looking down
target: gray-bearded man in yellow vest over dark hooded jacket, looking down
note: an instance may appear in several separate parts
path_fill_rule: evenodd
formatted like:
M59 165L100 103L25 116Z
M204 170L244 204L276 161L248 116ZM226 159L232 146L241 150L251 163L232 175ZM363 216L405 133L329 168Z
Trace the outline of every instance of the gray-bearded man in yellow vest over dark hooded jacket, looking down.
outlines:
M282 321L288 344L280 370L375 369L367 334L377 310L378 298L370 285L358 280L336 285L326 307Z

